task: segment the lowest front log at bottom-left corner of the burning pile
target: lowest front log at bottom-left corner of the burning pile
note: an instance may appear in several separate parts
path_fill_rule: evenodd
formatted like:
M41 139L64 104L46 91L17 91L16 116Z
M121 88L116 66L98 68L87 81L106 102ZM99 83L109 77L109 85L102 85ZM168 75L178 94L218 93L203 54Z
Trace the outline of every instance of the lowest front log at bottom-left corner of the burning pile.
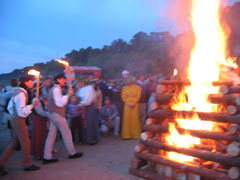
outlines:
M173 180L172 178L163 177L160 174L157 174L157 173L154 173L151 171L147 171L147 170L139 170L139 169L130 168L129 173L134 176L144 178L147 180Z

